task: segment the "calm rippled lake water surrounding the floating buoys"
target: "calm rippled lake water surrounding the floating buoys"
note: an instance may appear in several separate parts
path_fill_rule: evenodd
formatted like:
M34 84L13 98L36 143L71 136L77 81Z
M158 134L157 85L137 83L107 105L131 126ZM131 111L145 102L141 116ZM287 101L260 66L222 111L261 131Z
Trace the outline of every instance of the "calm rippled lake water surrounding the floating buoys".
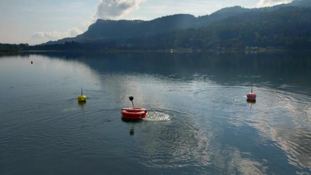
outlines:
M2 53L0 175L311 175L310 55Z

